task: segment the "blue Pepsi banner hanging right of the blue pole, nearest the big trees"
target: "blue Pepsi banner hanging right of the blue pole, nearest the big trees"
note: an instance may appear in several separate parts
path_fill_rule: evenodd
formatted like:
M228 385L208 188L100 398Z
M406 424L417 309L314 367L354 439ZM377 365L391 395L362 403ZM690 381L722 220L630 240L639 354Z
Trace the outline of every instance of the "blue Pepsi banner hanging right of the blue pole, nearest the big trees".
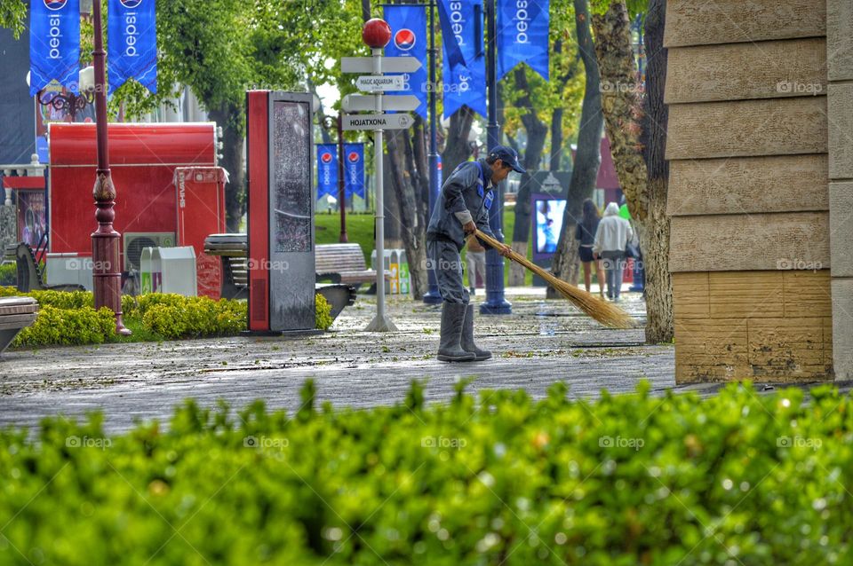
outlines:
M498 81L519 63L548 80L548 0L498 0Z

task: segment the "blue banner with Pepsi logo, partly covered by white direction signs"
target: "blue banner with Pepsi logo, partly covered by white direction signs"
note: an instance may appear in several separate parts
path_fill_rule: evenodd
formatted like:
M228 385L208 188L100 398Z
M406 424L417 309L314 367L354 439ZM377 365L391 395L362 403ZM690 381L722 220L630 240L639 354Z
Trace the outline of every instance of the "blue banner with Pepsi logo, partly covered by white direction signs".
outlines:
M395 90L388 95L413 94L420 100L417 112L426 120L426 10L423 5L386 5L385 20L391 27L391 43L385 48L386 57L417 57L420 68L405 73L406 90Z

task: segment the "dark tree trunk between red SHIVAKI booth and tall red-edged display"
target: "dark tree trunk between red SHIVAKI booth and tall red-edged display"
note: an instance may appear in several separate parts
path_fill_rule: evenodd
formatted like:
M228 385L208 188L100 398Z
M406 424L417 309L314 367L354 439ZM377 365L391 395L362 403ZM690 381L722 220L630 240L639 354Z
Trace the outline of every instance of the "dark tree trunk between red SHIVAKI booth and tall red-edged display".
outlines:
M243 144L245 137L240 124L243 107L227 105L209 111L213 122L222 128L222 160L220 165L228 172L225 186L225 213L228 232L238 232L246 208L245 170L243 169Z

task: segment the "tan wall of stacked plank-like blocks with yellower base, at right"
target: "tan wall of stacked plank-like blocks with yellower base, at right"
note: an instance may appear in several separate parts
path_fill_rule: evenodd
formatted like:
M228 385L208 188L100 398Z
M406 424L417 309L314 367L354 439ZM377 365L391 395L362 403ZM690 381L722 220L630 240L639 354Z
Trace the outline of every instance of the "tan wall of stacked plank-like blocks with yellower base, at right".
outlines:
M667 2L676 381L811 381L842 366L833 289L853 286L853 262L836 273L836 248L850 245L831 207L849 196L853 214L853 169L834 192L830 178L839 160L853 168L850 140L833 158L833 135L853 130L832 124L835 106L853 110L853 75L839 77L850 98L833 102L827 61L853 72L853 53L833 53L853 30L828 33L828 2Z

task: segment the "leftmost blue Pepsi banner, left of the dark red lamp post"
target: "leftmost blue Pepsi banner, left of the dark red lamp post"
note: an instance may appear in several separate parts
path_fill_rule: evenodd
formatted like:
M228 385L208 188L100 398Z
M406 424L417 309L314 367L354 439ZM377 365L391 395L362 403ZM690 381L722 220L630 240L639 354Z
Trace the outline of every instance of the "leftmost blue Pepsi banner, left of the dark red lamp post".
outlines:
M31 0L29 96L36 96L54 79L77 94L79 75L79 0Z

